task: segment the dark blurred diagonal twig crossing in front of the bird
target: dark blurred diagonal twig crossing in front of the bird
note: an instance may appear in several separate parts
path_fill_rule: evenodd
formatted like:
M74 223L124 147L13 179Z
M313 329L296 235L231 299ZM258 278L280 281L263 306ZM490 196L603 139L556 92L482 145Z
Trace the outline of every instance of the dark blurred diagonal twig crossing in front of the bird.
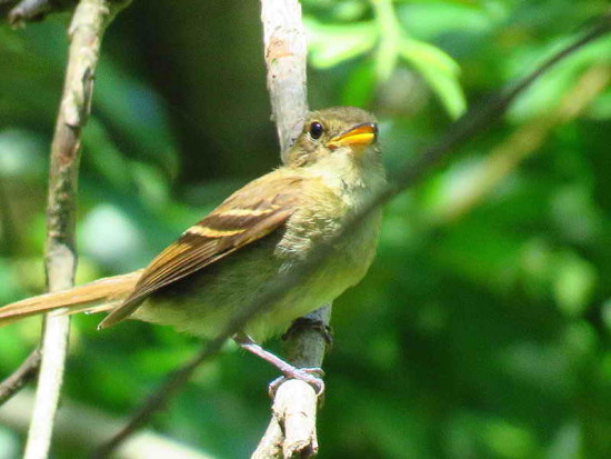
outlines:
M350 231L351 227L358 224L363 218L365 218L373 209L378 206L381 206L388 202L392 197L398 192L410 187L418 178L421 178L425 171L428 171L434 163L439 160L447 157L455 148L464 143L467 140L475 137L478 133L489 129L500 117L502 117L509 106L513 100L520 96L527 88L529 88L539 77L549 71L554 63L558 63L560 60L567 58L571 53L575 52L583 46L592 42L597 38L609 32L611 27L610 18L605 17L594 26L587 34L582 38L575 40L567 48L563 48L558 53L553 54L550 59L544 61L540 67L529 73L527 77L519 80L517 84L510 87L508 91L503 91L504 96L501 96L497 99L489 101L482 108L477 110L469 110L459 121L457 121L448 132L441 138L438 143L434 143L432 147L425 149L420 157L420 160L414 164L407 166L401 169L397 178L382 191L380 191L371 202L363 208L361 212L355 214L348 224L345 224L341 231L338 232L335 238L329 243L321 247L320 250L312 252L308 259L303 260L299 266L296 266L296 270L291 272L290 276L281 276L274 281L264 292L262 292L251 305L246 307L240 315L232 318L231 322L226 327L222 332L219 333L217 338L209 341L207 346L200 351L200 357L193 359L188 366L183 367L184 373L181 370L180 381L183 383L189 376L197 368L197 365L203 362L210 356L217 353L222 345L231 338L231 336L243 328L243 326L252 319L253 316L260 313L269 305L273 305L276 301L282 298L284 291L289 291L297 283L301 282L303 277L306 277L310 270L314 269L319 263L324 261L325 257L332 255L330 247L335 243L339 238L344 237L344 235ZM203 357L202 357L203 356ZM197 365L193 362L197 361ZM176 373L173 373L176 375ZM172 376L168 378L162 388L168 387L171 381ZM160 408L167 405L169 398L176 392L176 388L171 392L157 391L158 397L151 397L148 401L138 410L138 421L134 422L134 419L131 419L130 422L123 430L128 430L129 433L134 432L138 428L144 425L150 417L158 411ZM146 412L146 417L141 413ZM133 425L133 427L131 427ZM128 435L121 435L121 440L123 441ZM120 441L112 441L114 447L120 443ZM110 451L109 449L107 449Z

